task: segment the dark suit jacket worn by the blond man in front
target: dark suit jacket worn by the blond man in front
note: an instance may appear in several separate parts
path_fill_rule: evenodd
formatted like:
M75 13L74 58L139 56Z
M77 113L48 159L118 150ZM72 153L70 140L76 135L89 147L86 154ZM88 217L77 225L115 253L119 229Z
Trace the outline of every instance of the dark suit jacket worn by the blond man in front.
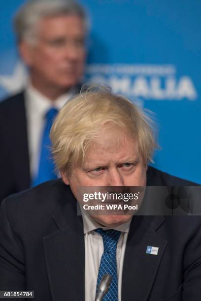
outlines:
M148 185L188 182L149 168ZM146 254L147 246L158 255ZM49 181L3 201L0 290L34 290L36 301L84 301L82 217L69 186ZM200 216L134 216L122 301L201 300Z

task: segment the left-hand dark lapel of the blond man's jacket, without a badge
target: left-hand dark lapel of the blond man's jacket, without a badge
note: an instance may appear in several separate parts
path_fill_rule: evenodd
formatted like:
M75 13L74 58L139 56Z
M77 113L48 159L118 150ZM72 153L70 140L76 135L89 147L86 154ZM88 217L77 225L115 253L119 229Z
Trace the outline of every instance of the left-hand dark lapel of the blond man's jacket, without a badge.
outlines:
M59 230L43 238L53 301L84 301L83 223L82 217L75 214L75 208L73 211L71 209L68 206L63 211L60 209L55 212L53 219Z

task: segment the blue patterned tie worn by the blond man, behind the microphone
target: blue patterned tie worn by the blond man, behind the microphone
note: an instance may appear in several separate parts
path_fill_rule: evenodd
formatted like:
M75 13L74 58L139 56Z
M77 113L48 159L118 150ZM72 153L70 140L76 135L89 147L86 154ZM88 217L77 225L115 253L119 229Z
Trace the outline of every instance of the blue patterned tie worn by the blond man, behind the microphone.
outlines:
M103 275L110 274L112 281L103 301L118 301L118 274L117 274L117 243L121 232L117 230L96 229L95 232L102 236L104 252L100 260L97 290Z

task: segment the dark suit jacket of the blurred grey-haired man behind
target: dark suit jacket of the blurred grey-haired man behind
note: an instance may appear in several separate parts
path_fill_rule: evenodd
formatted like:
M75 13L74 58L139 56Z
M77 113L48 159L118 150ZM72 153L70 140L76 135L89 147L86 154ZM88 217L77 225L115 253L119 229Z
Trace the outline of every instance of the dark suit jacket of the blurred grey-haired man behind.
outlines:
M74 88L79 93L81 85ZM0 102L0 203L30 187L30 159L24 91Z

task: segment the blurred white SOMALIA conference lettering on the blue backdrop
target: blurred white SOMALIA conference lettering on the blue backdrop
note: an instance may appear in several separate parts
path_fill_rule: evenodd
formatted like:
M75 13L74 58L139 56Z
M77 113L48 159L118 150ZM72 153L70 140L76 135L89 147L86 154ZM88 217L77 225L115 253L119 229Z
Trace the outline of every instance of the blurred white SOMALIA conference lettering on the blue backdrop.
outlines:
M192 78L178 78L174 65L91 64L86 71L88 81L106 83L113 92L138 101L198 98Z

